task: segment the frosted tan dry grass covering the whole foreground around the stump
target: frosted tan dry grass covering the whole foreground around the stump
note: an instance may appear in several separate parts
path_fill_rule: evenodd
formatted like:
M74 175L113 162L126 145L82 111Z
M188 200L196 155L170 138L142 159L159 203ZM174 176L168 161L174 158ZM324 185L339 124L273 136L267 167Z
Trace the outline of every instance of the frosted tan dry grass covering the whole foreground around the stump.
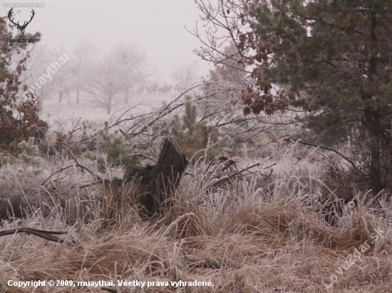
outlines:
M53 164L45 164L48 174L56 170ZM1 237L1 292L33 292L31 287L7 285L9 280L31 279L196 279L215 285L150 287L150 291L118 287L118 292L391 290L392 235L387 220L392 213L388 203L383 203L382 211L360 200L357 206L346 203L336 225L329 225L319 212L318 186L322 184L311 174L301 174L304 165L292 176L282 172L272 182L260 183L264 179L248 176L213 188L207 186L214 179L195 166L177 188L172 208L149 222L140 217L133 184L78 188L91 178L70 170L63 179L53 179L53 186L41 188L47 174L24 177L17 166L6 168L2 169L6 179L0 179L1 195L19 195L31 208L23 219L3 220L1 230L66 230L63 238L77 240L79 245L50 243L34 235ZM378 240L376 229L383 230ZM368 249L347 267L346 257L363 243ZM328 290L323 281L330 284L331 275L337 281ZM103 292L99 287L48 290L35 292Z

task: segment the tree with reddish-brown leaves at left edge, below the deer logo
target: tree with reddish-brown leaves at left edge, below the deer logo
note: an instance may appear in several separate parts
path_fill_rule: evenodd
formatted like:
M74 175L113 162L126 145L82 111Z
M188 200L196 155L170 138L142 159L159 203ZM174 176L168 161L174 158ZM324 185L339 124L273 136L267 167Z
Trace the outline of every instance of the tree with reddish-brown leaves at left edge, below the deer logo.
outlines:
M7 22L6 16L0 17L0 149L10 150L23 139L42 137L48 124L39 118L38 97L21 82L29 43L11 43L15 36ZM37 43L41 33L25 33L25 38ZM22 102L22 94L29 99Z

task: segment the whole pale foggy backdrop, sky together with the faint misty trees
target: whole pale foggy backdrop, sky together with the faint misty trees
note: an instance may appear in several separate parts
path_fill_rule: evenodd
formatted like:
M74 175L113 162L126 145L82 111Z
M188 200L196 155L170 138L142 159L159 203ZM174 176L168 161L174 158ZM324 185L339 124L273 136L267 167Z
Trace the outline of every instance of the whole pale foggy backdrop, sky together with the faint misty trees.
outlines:
M200 82L212 68L193 53L201 45L189 32L200 20L193 0L1 0L3 16L11 9L3 4L12 3L45 4L14 7L14 22L20 24L30 20L31 9L35 11L24 38L37 31L42 34L40 42L29 46L33 50L26 64L26 85L34 85L63 53L70 58L53 74L53 81L36 90L41 97L41 116L51 123L88 119L88 115L91 120L97 116L107 119L122 107L140 103L159 107ZM203 31L200 21L199 30ZM12 31L17 38L16 27ZM122 58L131 59L128 67ZM103 83L111 82L114 75L123 76L123 80L113 80L123 85L109 97ZM95 83L98 78L100 85Z

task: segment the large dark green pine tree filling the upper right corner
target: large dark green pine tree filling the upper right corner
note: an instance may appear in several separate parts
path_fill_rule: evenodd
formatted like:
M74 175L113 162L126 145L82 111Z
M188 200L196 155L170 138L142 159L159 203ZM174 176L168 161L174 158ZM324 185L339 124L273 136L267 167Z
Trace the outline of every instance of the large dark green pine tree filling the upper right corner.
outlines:
M259 79L289 85L319 133L361 124L378 193L389 166L381 154L391 149L391 1L258 2L250 9L252 29L269 58Z

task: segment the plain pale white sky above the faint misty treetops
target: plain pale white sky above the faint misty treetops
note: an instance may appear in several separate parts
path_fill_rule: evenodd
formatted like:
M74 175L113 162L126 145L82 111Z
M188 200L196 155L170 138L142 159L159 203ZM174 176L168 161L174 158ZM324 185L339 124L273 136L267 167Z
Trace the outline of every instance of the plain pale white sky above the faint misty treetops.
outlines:
M42 3L37 0L0 0L4 3ZM210 65L200 60L192 50L200 42L185 30L199 26L200 17L194 0L56 0L43 1L45 7L33 8L35 16L26 32L43 34L41 43L48 47L64 46L71 56L72 48L87 39L101 51L110 51L119 43L135 43L147 53L155 66L160 82L170 82L172 70L198 60L200 74ZM0 6L1 15L9 8ZM18 10L20 10L19 13ZM30 8L14 8L15 21L29 20ZM16 33L16 28L14 29Z

